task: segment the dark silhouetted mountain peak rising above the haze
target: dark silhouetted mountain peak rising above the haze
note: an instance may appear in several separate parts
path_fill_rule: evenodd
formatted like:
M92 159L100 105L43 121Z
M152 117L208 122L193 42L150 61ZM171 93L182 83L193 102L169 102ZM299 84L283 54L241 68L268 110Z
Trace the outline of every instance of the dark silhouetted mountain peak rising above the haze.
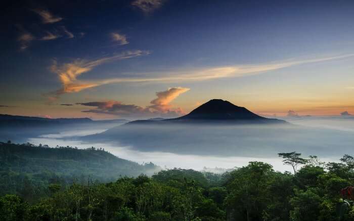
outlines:
M127 124L141 123L238 123L238 124L266 124L287 123L285 120L261 117L244 107L236 106L229 101L213 99L197 107L187 115L178 118L159 120L136 120Z

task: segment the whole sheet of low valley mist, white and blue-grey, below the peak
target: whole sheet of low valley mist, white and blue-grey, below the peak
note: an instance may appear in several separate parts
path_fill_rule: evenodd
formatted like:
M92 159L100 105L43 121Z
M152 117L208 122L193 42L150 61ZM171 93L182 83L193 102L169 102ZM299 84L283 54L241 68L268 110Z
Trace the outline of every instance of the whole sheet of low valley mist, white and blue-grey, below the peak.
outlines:
M297 151L303 157L338 161L354 155L354 120L341 118L287 119L288 125L120 125L70 127L54 134L28 139L38 145L78 148L102 147L120 158L154 162L161 167L233 168L249 161L271 163L276 170L290 170L278 157ZM86 136L91 135L91 136Z

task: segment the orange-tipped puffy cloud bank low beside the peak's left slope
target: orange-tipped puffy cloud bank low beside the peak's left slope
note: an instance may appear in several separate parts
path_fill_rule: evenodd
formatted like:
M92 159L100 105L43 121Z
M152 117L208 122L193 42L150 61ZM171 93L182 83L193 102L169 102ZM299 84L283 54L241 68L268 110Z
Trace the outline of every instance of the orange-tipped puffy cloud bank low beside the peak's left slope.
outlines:
M85 113L111 114L122 117L176 117L184 114L181 108L173 108L170 104L175 98L189 91L185 87L171 87L166 91L157 92L157 98L147 107L140 107L134 104L123 104L119 101L86 102L77 103L83 106L96 107L95 109L84 110Z

